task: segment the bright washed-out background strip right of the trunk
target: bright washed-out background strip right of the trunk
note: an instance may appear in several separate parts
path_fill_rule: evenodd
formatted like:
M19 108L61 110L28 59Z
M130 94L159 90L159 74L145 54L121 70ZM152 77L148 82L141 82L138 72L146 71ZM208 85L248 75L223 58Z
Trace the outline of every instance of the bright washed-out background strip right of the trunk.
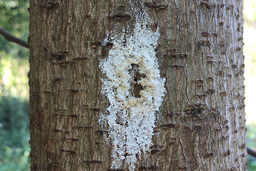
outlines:
M244 55L245 55L245 79L255 79L256 76L256 0L244 0ZM248 81L249 84L256 82L256 80ZM246 80L245 80L246 83ZM255 91L254 89L250 89L251 85L245 85L245 103L246 103L246 115L248 116L255 115L254 111L254 100L247 100L247 99L254 99ZM246 89L247 88L247 89ZM249 89L248 89L249 88ZM252 87L253 88L253 87ZM247 98L248 97L248 98ZM252 148L256 151L256 123L251 122L247 124L247 147ZM252 156L248 156L248 171L256 170L256 158Z

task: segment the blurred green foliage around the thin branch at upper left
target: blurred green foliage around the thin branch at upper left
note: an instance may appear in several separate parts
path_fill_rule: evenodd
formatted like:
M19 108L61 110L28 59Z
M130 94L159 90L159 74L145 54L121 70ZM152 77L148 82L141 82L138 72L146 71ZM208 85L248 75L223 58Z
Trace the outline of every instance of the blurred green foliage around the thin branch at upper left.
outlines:
M28 7L28 0L0 0L0 27L9 31L12 35L27 41L29 36ZM7 41L3 36L0 36L0 49L13 54L14 57L26 59L29 57L27 49L20 48L19 45Z

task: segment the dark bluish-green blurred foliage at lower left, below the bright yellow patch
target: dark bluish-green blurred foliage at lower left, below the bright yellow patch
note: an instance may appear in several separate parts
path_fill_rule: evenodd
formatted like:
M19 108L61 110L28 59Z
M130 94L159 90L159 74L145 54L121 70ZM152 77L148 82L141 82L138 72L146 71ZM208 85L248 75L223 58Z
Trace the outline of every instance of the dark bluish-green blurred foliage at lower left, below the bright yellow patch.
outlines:
M2 96L0 101L0 170L29 170L28 101Z

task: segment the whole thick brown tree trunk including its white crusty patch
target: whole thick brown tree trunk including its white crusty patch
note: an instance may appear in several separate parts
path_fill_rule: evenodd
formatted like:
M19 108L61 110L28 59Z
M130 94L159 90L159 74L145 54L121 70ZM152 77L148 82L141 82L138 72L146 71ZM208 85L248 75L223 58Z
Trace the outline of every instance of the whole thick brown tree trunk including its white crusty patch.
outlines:
M29 11L31 170L247 170L242 1Z

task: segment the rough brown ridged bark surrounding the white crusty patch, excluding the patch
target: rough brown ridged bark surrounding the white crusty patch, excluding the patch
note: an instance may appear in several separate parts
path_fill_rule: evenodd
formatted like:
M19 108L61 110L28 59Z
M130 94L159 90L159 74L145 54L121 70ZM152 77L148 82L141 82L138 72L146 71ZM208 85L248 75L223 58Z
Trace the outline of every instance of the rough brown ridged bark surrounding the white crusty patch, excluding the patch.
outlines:
M242 1L145 3L167 93L136 170L247 170ZM106 32L133 26L130 4L31 0L29 11L31 170L111 170L98 65Z

